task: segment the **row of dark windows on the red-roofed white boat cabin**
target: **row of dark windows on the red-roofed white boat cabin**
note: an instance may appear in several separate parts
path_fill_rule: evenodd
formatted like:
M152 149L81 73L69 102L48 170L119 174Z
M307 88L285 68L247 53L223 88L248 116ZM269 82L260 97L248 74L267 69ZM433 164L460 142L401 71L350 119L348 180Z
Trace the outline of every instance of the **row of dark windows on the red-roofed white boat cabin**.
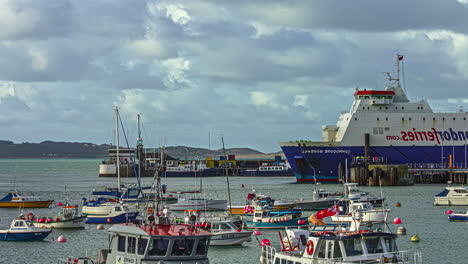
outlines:
M146 246L148 245L148 239L127 237L117 235L117 251L126 252L129 254L145 255ZM168 249L170 250L170 256L191 256L195 245L194 238L177 238L173 240L172 247L170 247L170 239L167 238L153 238L150 241L148 247L148 256L166 256ZM198 240L198 244L195 250L195 255L203 256L206 255L206 249L208 247L208 240L201 238Z

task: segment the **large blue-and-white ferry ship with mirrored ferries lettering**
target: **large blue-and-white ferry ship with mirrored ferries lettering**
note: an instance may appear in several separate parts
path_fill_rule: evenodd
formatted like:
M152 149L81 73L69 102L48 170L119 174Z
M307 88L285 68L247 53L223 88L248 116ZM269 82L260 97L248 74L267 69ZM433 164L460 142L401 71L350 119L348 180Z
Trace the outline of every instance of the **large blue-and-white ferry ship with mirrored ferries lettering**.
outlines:
M389 164L467 167L468 113L435 113L426 100L411 102L396 77L387 73L384 90L356 89L349 112L336 125L322 126L323 141L281 142L297 182L338 182L356 158Z

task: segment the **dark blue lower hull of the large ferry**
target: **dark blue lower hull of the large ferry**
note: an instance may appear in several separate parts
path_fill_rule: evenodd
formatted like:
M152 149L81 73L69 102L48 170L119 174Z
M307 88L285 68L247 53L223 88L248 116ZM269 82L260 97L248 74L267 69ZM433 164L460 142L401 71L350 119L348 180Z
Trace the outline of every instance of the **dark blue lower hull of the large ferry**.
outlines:
M364 156L361 146L281 146L296 181L300 183L338 183L339 170L350 166L353 157ZM371 157L383 157L388 164L448 164L449 155L453 164L465 163L467 148L450 146L371 146ZM340 165L341 164L341 165Z

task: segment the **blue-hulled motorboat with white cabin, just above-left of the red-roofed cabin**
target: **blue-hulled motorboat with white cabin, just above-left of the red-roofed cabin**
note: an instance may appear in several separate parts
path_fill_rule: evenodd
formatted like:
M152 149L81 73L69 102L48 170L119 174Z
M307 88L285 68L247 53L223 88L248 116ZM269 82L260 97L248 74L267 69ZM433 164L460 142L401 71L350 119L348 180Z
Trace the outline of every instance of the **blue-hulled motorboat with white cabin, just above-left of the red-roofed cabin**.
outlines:
M88 215L87 224L116 224L132 222L138 216L138 212L131 211L125 205L114 205L107 215Z

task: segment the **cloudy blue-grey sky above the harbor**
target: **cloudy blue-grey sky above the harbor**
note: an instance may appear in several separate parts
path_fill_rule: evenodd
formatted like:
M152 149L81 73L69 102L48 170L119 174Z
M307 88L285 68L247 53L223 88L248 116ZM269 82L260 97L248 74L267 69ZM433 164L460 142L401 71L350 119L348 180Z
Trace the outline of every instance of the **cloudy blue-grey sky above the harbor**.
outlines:
M404 55L410 100L468 110L468 0L0 0L0 140L320 140Z

